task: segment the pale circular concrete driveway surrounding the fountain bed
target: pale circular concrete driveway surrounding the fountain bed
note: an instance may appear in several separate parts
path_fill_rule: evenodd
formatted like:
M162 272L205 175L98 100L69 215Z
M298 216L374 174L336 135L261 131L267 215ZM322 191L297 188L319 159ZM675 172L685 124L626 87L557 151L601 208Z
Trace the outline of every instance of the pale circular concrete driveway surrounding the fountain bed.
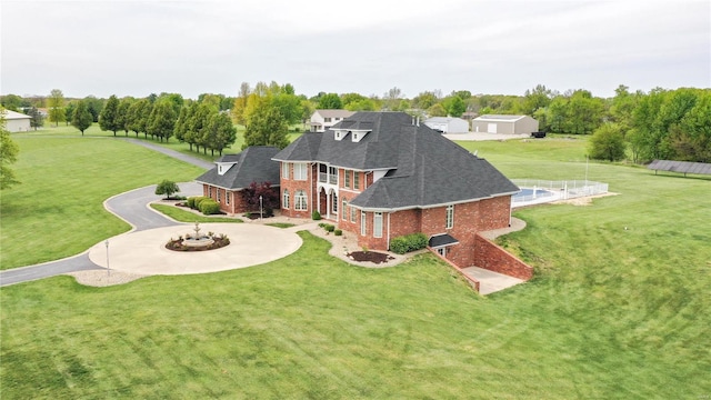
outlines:
M193 223L149 229L109 239L89 249L89 259L111 270L137 274L186 274L227 271L274 261L297 251L301 238L293 230L252 223L201 223L201 232L224 233L230 244L209 251L172 251L168 240L194 233Z

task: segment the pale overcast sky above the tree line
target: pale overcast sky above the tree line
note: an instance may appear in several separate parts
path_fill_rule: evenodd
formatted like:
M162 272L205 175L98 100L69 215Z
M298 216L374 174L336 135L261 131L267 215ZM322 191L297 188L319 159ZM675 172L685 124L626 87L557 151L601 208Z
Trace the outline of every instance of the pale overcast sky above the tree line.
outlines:
M0 93L711 87L711 1L0 0Z

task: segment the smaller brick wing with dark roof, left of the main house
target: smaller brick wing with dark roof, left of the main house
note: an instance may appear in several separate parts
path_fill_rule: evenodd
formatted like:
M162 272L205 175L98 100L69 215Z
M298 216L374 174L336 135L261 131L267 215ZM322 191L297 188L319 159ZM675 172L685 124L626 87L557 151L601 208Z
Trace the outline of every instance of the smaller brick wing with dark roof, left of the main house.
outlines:
M228 214L248 211L242 191L256 182L269 182L279 190L279 164L271 160L279 149L270 146L253 146L239 154L224 154L214 163L214 168L196 179L202 183L202 196L220 204Z

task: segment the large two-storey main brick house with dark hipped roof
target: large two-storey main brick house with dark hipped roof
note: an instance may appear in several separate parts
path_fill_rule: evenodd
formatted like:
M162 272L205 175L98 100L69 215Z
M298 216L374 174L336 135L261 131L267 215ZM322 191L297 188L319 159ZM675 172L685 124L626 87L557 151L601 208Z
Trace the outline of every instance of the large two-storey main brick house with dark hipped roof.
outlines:
M354 113L302 134L272 160L282 214L319 211L373 250L423 232L460 267L474 264L477 232L510 224L519 192L488 161L403 112Z

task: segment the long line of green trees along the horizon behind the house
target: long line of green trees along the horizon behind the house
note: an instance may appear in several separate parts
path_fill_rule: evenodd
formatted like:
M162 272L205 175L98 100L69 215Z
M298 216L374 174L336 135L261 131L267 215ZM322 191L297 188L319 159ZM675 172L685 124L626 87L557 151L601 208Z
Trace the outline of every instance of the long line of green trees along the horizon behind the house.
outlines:
M709 162L709 89L690 88L632 92L620 84L614 97L600 98L584 89L561 93L538 84L523 96L472 94L468 90L443 96L441 90L431 90L408 98L394 87L382 96L319 92L307 98L297 94L290 83L272 81L258 82L254 87L242 82L236 97L203 93L194 101L176 93L161 93L144 99L106 101L87 97L64 106L61 91L52 90L47 99L8 94L0 102L8 109L43 103L48 107L49 120L54 123L67 121L80 129L91 119L114 134L121 130L126 134L132 131L137 137L143 133L161 141L174 137L203 152L221 153L234 142L227 118L220 117L218 122L217 114L229 114L232 122L246 128L244 147L283 148L288 144L288 127L302 123L307 130L316 109L347 109L405 111L422 118L528 114L539 121L540 130L593 134L590 148L593 158L621 160L629 153L634 162L660 158ZM102 119L103 112L108 114Z

